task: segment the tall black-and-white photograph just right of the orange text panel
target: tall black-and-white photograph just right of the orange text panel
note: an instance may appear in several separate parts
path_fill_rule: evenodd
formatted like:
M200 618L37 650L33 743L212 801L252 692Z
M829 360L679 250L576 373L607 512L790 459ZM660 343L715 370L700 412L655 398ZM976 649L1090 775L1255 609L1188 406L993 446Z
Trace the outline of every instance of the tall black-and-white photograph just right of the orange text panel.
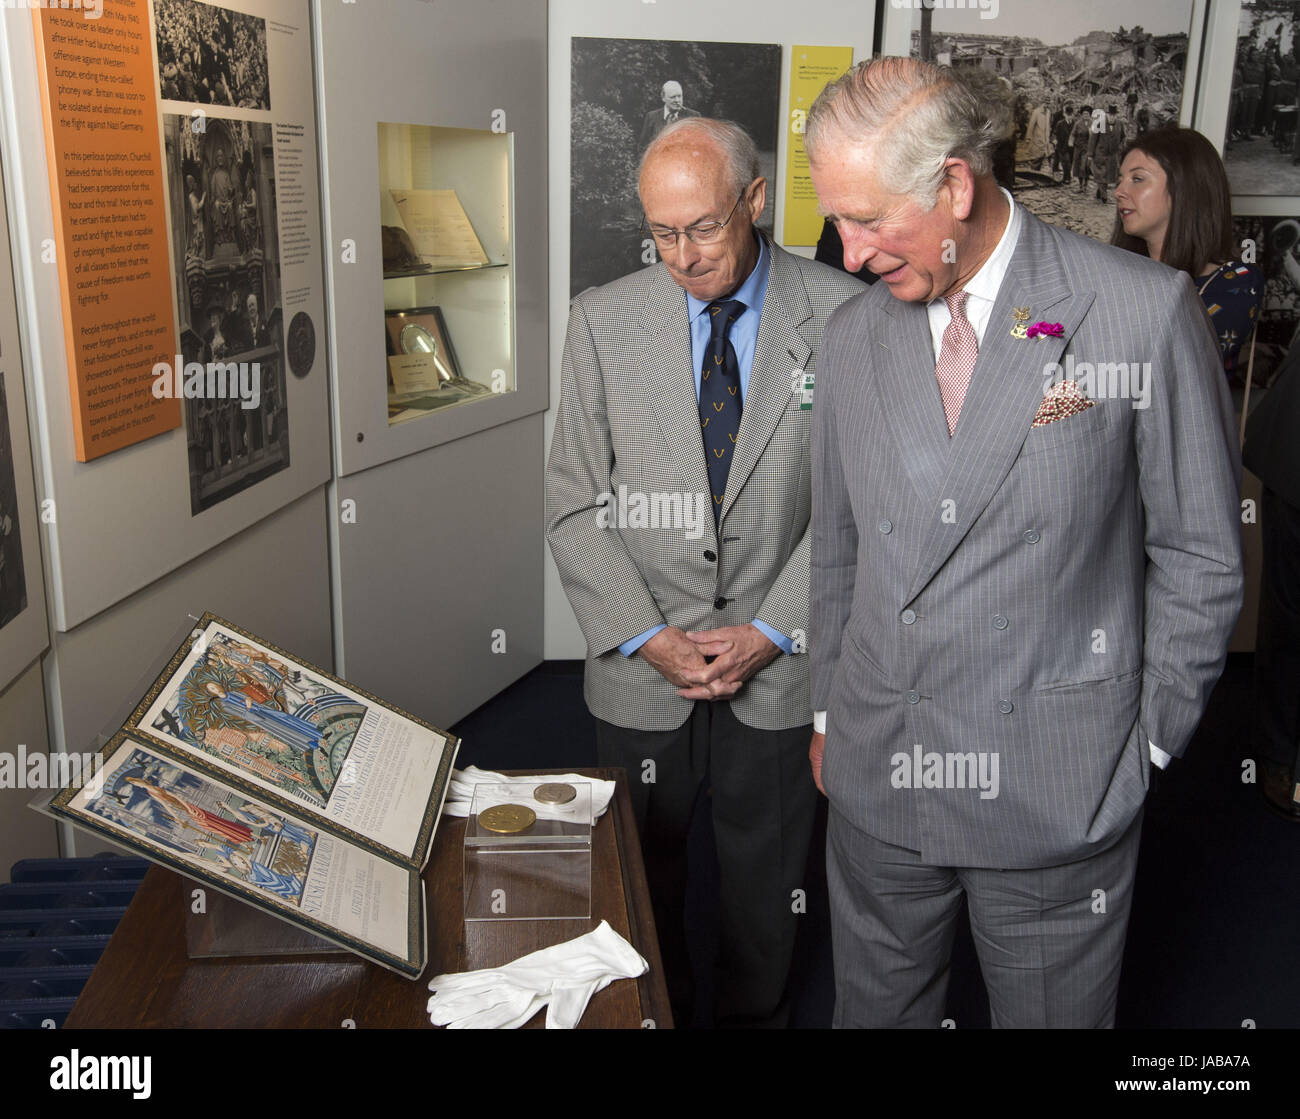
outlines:
M165 116L164 135L181 354L256 381L242 399L185 400L199 513L289 465L276 166L270 125Z

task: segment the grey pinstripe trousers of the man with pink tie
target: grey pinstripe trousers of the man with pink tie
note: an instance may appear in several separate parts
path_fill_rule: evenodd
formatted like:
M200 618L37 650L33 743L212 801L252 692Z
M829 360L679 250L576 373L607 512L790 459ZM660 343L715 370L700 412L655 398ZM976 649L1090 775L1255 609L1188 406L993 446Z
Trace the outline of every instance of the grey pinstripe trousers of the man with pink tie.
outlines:
M833 1024L939 1027L965 893L994 1028L1113 1027L1140 837L1141 812L1117 843L1062 867L935 867L832 807Z

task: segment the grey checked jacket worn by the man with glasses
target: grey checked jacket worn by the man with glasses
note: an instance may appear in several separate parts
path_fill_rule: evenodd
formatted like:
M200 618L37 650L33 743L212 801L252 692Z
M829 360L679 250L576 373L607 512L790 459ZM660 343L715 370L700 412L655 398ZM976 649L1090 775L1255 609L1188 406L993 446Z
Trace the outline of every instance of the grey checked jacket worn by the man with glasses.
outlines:
M619 727L671 730L690 714L693 703L649 663L619 651L654 625L693 630L760 619L786 636L807 633L812 412L800 408L794 370L812 369L827 317L862 285L771 240L767 247L771 270L720 533L686 294L660 263L584 291L569 309L546 537L586 638L588 707ZM620 524L636 517L602 503L620 486L701 495L703 534L688 539L680 524ZM715 608L718 598L725 607ZM768 730L809 723L807 656L777 656L737 693L732 711Z

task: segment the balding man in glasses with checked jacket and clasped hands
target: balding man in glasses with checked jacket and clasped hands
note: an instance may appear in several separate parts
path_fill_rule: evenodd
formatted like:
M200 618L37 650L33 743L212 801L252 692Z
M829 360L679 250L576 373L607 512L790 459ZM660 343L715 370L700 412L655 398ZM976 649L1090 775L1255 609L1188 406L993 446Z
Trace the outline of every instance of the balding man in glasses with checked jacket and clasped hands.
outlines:
M573 300L547 539L586 638L601 763L628 769L673 1014L689 1024L685 847L707 777L718 1019L780 1024L816 795L805 382L861 283L754 229L766 182L734 125L666 127L640 191L662 261Z

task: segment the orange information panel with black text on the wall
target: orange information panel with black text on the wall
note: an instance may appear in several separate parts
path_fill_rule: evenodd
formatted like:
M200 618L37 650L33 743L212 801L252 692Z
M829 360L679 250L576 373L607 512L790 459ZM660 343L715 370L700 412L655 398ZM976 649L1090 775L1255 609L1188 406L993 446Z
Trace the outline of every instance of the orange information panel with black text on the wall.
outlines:
M157 82L146 0L34 8L77 459L181 424Z

